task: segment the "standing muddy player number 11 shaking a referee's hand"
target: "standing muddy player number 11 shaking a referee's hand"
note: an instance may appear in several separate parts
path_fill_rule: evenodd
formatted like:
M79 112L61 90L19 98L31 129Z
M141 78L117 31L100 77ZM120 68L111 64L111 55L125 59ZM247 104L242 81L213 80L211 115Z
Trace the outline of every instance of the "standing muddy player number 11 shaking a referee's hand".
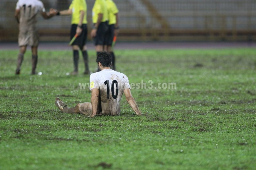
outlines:
M32 50L32 72L36 73L37 64L37 47L39 41L38 30L36 29L36 15L41 13L45 19L52 18L56 15L53 9L50 12L45 12L44 4L39 0L19 0L16 5L15 18L20 24L19 26L19 47L20 54L18 55L17 69L15 74L20 74L20 67L23 61L27 46L31 46Z

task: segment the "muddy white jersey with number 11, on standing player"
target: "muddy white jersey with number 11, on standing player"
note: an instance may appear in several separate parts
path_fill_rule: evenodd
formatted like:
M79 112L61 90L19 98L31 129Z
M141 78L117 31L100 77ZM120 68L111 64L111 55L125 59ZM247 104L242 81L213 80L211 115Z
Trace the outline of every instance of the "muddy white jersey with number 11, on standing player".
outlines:
M31 30L36 27L36 15L45 12L44 4L39 0L19 0L16 10L20 10L20 29Z

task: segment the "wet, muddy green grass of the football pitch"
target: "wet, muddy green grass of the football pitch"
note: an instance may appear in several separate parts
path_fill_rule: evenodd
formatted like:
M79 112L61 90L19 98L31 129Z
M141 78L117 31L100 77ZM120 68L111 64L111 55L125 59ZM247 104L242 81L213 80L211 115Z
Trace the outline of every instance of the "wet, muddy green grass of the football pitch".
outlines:
M89 82L81 57L79 75L66 76L72 51L42 50L43 75L31 76L28 51L15 76L17 54L0 55L0 169L256 166L255 49L116 50L130 83L175 82L177 89L133 89L143 116L122 99L120 116L95 118L54 104L55 97L70 107L90 101L90 90L78 86ZM95 70L94 51L89 56Z

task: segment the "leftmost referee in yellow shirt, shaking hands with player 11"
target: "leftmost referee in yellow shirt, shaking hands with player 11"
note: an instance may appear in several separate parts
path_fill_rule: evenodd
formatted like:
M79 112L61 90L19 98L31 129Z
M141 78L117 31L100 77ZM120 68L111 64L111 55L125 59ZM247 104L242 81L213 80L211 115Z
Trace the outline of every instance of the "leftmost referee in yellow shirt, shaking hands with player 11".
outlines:
M85 0L73 0L68 10L59 11L57 15L72 15L70 40L77 34L78 37L72 43L74 71L72 75L78 74L79 49L84 58L84 74L90 74L87 54L87 5Z

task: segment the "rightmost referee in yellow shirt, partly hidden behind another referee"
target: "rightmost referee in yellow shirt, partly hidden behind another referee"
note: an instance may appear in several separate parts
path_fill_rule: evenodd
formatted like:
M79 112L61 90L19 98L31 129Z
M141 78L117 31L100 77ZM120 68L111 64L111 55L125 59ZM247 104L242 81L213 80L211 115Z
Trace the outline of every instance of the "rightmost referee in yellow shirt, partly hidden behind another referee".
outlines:
M111 54L112 57L112 69L116 70L115 66L115 54L112 49L112 42L114 39L114 36L117 36L118 34L118 9L116 7L116 4L112 0L106 0L107 2L107 9L108 9L108 31L107 31L107 38L106 38L106 44L105 44L105 50L108 51Z

